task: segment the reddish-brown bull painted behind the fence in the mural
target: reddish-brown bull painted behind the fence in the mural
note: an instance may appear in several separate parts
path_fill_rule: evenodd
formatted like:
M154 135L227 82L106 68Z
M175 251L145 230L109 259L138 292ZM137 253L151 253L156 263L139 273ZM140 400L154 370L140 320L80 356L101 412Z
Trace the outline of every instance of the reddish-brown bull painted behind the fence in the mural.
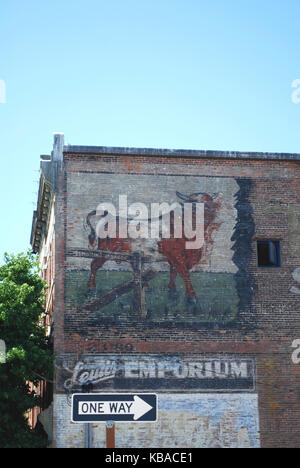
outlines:
M90 233L88 237L89 248L96 249L100 252L122 252L122 253L133 253L141 251L142 254L150 253L152 261L158 259L158 254L160 254L165 261L168 262L170 266L170 282L168 288L171 291L176 291L175 279L179 275L185 284L185 295L189 301L194 301L196 298L196 293L191 283L190 272L197 264L199 264L201 258L204 254L208 254L213 248L213 236L214 233L220 228L222 222L217 221L217 214L222 207L223 194L208 194L208 193L192 193L190 195L183 195L180 192L176 192L178 199L184 203L189 203L195 205L196 203L204 204L204 245L201 248L196 249L187 249L186 243L188 240L184 234L184 228L182 226L183 235L181 237L175 237L174 235L174 213L171 213L171 229L170 229L170 238L160 239L156 241L153 239L151 248L145 246L141 240L131 239L131 238L99 238L97 237L95 227L92 224L92 218L96 217L97 212L92 211L88 214L86 218L86 226L89 228ZM193 212L193 224L195 224L195 210ZM104 213L105 216L107 213ZM161 220L162 216L160 216ZM151 220L149 220L151 221ZM117 218L117 223L119 219ZM184 217L182 219L182 224L184 224ZM94 292L96 289L96 274L97 271L107 262L108 257L101 255L99 252L99 257L95 258L91 264L91 275L88 282L88 286L91 292ZM117 263L120 263L121 260L117 259ZM135 258L128 255L128 262L131 263L134 268Z

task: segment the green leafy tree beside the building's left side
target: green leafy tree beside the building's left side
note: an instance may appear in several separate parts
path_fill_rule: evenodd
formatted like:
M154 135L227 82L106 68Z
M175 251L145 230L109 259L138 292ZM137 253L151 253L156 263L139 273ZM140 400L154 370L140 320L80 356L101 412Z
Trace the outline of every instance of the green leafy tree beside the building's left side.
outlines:
M28 382L37 374L51 379L53 357L42 324L45 282L36 257L5 255L0 267L0 339L6 343L6 362L0 364L0 447L38 448L47 438L28 426L26 412L39 405Z

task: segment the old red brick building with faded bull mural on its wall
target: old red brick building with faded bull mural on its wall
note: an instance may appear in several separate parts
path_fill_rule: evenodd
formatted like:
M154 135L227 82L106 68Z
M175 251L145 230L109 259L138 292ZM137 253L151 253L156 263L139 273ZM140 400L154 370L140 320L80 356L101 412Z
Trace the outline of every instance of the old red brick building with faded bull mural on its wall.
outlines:
M119 448L299 447L299 161L54 135L31 241L50 286L53 446L85 446L70 396L92 384L158 394L157 423L115 424ZM99 239L99 204L125 199L136 230L147 216L135 203L204 203L204 246ZM105 424L91 431L105 447Z

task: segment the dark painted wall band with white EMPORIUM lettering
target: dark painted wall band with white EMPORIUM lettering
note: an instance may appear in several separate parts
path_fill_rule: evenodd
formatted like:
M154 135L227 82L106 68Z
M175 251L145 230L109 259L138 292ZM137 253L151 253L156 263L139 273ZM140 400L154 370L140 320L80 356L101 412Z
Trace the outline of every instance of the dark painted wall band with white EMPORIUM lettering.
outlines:
M119 391L136 390L254 390L253 359L204 358L201 356L97 355L75 363L64 388L79 390L91 383Z

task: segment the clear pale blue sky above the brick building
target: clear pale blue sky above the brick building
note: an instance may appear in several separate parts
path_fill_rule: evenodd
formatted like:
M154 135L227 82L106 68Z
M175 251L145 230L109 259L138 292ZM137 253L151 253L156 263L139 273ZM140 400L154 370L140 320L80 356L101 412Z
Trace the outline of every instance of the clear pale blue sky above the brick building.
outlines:
M55 131L74 145L300 152L299 18L299 0L2 0L0 258L29 247Z

